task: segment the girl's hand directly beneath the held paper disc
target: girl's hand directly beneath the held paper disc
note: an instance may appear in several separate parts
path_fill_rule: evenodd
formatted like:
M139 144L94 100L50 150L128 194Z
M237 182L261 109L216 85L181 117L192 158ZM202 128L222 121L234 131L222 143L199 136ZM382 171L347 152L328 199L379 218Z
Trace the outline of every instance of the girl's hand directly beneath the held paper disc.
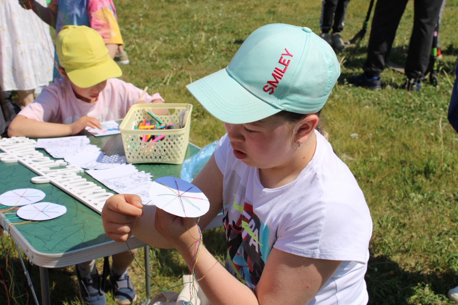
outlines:
M156 209L154 227L178 251L193 248L200 239L196 218L175 216L159 208Z

